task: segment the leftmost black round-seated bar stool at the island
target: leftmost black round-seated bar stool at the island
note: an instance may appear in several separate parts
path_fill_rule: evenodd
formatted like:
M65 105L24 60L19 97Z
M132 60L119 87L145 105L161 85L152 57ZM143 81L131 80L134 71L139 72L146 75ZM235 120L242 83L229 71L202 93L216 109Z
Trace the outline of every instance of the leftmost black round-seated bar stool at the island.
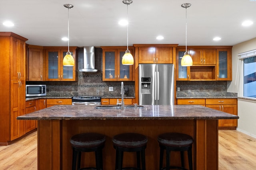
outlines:
M71 137L70 143L73 148L72 170L93 169L103 170L102 149L106 137L98 133L81 133ZM96 168L81 168L82 152L95 152ZM77 160L78 157L78 160Z

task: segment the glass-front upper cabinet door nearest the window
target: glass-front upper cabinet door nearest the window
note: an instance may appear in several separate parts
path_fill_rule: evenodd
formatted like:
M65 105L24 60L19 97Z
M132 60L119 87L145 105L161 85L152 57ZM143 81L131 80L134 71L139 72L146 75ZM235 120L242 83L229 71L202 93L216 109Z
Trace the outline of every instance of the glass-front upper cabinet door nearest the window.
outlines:
M217 80L232 80L230 49L217 49Z

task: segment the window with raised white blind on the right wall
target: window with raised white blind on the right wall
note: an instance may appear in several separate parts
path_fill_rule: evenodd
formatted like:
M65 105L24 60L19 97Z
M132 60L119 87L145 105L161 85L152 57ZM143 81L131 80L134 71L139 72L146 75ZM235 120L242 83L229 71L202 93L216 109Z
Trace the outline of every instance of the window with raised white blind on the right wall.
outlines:
M243 64L243 96L256 98L256 50L238 54Z

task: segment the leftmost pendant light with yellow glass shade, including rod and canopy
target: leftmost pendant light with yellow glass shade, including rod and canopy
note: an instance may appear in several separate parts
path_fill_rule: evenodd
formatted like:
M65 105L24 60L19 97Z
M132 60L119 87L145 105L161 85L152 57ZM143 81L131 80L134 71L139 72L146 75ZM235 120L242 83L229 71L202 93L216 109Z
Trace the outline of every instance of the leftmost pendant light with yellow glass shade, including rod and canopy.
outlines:
M66 53L66 55L63 59L63 66L74 66L75 65L74 58L69 51L69 9L73 8L73 5L72 4L64 4L64 6L66 8L68 8L68 52Z

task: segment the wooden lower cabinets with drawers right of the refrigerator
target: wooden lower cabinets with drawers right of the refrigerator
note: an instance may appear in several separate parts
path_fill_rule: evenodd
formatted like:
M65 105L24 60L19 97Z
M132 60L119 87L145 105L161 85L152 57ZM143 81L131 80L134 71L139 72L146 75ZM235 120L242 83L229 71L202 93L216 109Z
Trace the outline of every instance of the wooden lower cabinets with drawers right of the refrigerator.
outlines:
M237 115L237 99L177 99L177 104L201 105ZM237 119L219 119L219 129L236 129Z

